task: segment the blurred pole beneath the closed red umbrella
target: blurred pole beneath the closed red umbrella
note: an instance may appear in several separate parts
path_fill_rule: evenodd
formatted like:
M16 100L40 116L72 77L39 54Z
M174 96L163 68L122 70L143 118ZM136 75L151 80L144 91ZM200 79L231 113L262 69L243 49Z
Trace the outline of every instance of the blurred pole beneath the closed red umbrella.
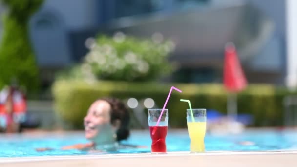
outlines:
M230 121L237 118L237 95L236 93L228 93L227 96L227 116Z

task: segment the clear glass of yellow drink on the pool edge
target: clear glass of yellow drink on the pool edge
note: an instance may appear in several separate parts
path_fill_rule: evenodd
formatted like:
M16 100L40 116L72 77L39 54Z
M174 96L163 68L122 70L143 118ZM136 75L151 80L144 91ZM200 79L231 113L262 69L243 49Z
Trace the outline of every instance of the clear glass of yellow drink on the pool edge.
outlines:
M206 109L187 109L187 125L191 139L190 150L193 153L204 152L204 136L206 132ZM194 122L193 122L194 121Z

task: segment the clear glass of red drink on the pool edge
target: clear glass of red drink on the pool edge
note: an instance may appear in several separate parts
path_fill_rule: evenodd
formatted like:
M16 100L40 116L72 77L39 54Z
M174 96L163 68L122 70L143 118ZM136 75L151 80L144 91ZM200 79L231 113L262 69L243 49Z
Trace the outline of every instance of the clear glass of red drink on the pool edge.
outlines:
M162 109L148 109L148 126L150 132L151 152L166 153L166 135L168 127L168 109L164 109L157 125Z

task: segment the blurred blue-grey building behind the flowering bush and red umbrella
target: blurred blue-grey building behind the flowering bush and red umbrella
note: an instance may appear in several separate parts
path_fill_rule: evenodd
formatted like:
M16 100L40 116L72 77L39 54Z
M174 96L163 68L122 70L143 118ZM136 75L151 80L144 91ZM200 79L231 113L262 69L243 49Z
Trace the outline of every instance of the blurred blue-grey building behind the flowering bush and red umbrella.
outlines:
M84 57L87 38L123 31L173 39L171 81L221 82L224 45L234 42L250 83L285 84L285 20L286 0L45 0L30 36L49 82Z

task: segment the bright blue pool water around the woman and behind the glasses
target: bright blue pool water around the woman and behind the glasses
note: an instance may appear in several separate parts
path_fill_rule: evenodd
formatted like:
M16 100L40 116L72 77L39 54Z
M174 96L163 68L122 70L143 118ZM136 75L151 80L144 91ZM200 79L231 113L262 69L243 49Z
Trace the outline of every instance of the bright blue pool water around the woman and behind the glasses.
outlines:
M243 145L244 141L249 144ZM0 134L0 157L85 155L79 150L59 150L62 146L86 143L83 132L43 134ZM122 149L112 153L150 152L148 131L132 131L125 144L148 146L147 148ZM168 151L189 151L190 139L187 130L169 130L166 139ZM52 151L37 152L35 148L51 147ZM248 130L237 135L211 135L205 137L206 151L274 151L297 150L297 131Z

